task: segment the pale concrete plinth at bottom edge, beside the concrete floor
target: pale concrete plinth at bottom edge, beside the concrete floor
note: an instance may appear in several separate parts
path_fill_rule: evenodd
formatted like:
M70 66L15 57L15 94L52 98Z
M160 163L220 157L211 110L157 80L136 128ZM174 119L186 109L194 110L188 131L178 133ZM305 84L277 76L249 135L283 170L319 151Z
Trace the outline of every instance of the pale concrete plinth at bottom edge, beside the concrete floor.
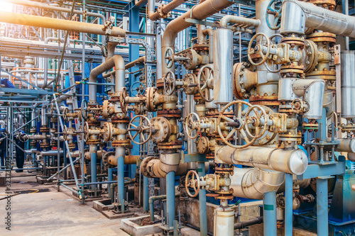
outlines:
M147 217L149 215L121 220L121 229L133 236L144 236L161 232L160 223L141 226L141 220ZM160 219L158 215L154 215L154 217Z

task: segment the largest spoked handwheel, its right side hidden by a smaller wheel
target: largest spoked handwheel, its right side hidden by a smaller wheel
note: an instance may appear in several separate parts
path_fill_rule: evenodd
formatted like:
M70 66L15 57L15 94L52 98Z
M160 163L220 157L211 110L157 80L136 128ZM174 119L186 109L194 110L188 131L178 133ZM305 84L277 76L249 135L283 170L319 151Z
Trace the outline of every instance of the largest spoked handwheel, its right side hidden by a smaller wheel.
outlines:
M224 115L224 111L226 111L227 108L234 106L238 104L238 116L234 119L229 118L227 116ZM221 139L223 140L223 142L228 145L229 147L234 147L234 148L244 148L244 147L249 147L250 145L253 144L253 142L256 140L256 137L254 137L252 140L249 140L249 138L246 136L245 130L244 130L244 118L242 117L242 108L243 105L249 106L251 107L251 104L246 102L246 101L231 101L230 103L226 104L226 106L224 106L224 108L222 108L222 110L219 112L219 116L217 119L217 130L219 133L219 137L221 137ZM236 122L238 121L238 122ZM222 130L221 130L221 122L226 122L226 123L240 123L239 126L233 127L231 129L231 131L229 131L228 135L226 135L226 137L224 137ZM228 126L228 125L227 125ZM236 132L240 132L244 141L246 142L245 145L233 145L231 144L228 140L229 138L233 137L234 134Z

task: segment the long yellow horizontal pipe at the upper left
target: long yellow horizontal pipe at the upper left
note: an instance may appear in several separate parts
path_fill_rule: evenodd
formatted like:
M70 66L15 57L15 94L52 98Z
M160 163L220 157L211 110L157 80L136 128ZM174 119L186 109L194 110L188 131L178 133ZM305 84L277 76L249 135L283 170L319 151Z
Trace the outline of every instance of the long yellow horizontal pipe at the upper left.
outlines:
M52 28L55 30L67 30L70 32L92 33L94 35L107 34L106 29L102 25L83 23L78 21L61 20L57 18L49 18L43 16L31 16L6 11L0 11L0 22L12 23L22 26ZM109 35L116 37L125 37L126 31L118 27L112 27Z

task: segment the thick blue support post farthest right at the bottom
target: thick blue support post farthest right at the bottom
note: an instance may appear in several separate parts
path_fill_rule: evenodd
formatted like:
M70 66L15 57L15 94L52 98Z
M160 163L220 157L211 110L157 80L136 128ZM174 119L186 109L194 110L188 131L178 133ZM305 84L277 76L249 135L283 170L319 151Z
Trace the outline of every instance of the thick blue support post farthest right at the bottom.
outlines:
M317 179L317 235L328 235L328 179L320 177Z

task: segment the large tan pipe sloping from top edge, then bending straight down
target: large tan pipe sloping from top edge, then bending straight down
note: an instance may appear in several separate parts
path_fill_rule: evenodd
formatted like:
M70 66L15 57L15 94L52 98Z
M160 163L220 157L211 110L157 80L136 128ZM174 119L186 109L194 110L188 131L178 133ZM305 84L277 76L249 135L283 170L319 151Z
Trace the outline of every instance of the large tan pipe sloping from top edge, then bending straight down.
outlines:
M163 40L162 40L162 57L165 61L165 52L170 48L175 51L175 38L178 36L178 33L189 26L192 26L193 23L185 22L185 18L193 18L197 20L203 20L209 16L212 16L214 13L225 9L227 6L234 4L228 0L206 0L202 4L194 6L190 11L182 14L178 18L175 18L173 21L168 23L164 30ZM163 63L163 76L169 71L174 72L174 63L172 67L168 68L165 63Z

